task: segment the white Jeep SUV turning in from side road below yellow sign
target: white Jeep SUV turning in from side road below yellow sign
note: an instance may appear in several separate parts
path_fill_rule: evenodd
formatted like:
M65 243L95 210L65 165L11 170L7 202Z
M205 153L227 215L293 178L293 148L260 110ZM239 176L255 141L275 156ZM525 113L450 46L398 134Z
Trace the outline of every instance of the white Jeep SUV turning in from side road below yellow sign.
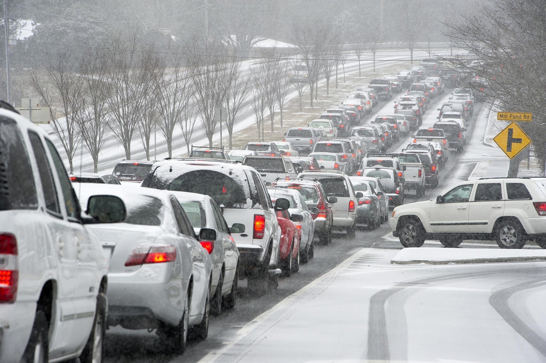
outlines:
M465 239L496 240L520 249L527 240L546 248L546 178L461 181L436 200L396 207L389 220L404 247L438 239L456 247Z

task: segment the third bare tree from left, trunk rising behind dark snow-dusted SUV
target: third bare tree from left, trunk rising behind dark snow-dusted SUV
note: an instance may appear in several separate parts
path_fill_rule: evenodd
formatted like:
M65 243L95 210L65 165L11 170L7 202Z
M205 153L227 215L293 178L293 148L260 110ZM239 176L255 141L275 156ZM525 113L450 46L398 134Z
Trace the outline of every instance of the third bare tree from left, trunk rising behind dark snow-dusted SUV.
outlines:
M125 150L125 158L131 158L131 141L141 120L146 89L140 84L139 72L134 72L139 61L140 49L133 35L129 41L114 38L105 47L108 56L109 128Z

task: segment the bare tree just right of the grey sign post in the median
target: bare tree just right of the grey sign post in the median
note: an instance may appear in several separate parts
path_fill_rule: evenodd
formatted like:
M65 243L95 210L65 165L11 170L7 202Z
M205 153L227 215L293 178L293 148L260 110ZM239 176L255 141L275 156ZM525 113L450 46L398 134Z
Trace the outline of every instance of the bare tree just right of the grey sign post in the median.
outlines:
M233 127L237 122L237 117L244 106L244 102L249 92L250 80L248 77L242 77L241 65L237 63L232 68L231 80L225 99L225 105L228 112L225 125L228 129L230 149L233 148Z

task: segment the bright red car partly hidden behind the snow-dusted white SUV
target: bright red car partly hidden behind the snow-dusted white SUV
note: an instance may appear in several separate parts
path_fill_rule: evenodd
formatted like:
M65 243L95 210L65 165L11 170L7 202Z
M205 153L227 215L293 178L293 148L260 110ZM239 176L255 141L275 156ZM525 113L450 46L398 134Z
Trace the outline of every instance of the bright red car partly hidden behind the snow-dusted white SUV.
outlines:
M275 199L271 198L275 204ZM296 227L288 210L277 211L277 221L281 227L281 245L278 258L283 276L290 276L300 269L300 239L301 229Z

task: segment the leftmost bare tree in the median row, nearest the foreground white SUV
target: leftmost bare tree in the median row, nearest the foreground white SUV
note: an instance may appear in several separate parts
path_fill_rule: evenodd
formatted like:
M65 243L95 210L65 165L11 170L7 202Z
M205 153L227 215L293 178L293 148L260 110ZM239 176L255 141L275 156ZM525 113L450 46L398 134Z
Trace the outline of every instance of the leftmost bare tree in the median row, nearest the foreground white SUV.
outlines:
M76 74L77 63L70 52L58 52L46 66L45 77L31 72L32 88L49 107L51 128L67 155L70 173L81 141L78 118L84 108L84 80Z

